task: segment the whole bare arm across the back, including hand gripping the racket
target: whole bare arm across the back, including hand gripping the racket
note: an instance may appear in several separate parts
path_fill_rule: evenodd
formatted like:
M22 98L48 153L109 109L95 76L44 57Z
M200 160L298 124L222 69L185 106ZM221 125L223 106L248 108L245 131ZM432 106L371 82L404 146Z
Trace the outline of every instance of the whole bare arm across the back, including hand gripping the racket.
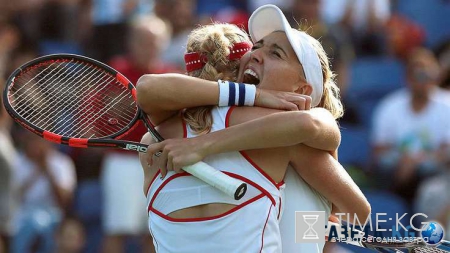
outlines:
M201 161L208 155L230 151L286 147L304 143L313 148L335 151L340 132L332 115L324 109L280 112L263 108L251 110L242 124L189 139L168 139L149 147L151 157L160 150L168 154L173 165L169 170ZM252 120L253 118L257 118ZM260 117L260 118L258 118Z

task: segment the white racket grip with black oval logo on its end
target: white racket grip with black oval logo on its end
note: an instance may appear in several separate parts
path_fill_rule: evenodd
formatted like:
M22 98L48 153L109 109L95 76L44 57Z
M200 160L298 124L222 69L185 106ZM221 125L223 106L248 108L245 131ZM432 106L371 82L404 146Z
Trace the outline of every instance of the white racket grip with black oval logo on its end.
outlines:
M235 200L241 199L247 191L247 184L232 178L204 162L183 167L183 170L209 185L221 190Z

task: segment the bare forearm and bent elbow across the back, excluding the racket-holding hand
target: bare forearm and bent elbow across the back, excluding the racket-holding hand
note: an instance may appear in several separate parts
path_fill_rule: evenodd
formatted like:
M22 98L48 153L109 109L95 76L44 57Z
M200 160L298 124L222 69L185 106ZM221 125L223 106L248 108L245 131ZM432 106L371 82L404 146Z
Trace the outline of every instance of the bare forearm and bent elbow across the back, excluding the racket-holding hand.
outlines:
M204 140L207 155L286 147L299 143L312 148L334 151L340 143L340 132L336 121L328 111L315 108L310 111L272 113L211 133L205 136Z

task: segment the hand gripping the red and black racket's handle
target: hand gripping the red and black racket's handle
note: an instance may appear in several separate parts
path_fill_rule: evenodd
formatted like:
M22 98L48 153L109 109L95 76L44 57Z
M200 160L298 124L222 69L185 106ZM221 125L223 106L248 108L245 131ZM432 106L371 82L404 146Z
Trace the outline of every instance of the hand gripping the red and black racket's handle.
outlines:
M196 138L168 139L147 149L147 163L158 168L164 178L167 171L181 172L184 166L201 161L206 155L205 145Z

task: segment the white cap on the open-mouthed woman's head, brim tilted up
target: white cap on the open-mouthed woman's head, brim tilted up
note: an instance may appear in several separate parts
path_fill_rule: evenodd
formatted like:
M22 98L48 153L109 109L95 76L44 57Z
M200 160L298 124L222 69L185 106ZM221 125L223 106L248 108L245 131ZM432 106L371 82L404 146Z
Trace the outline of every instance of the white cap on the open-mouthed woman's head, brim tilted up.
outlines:
M312 46L313 37L291 27L283 12L273 4L256 9L248 20L248 29L253 42L275 31L282 31L286 36L303 66L306 81L312 86L312 106L320 103L323 95L322 66L319 56Z

